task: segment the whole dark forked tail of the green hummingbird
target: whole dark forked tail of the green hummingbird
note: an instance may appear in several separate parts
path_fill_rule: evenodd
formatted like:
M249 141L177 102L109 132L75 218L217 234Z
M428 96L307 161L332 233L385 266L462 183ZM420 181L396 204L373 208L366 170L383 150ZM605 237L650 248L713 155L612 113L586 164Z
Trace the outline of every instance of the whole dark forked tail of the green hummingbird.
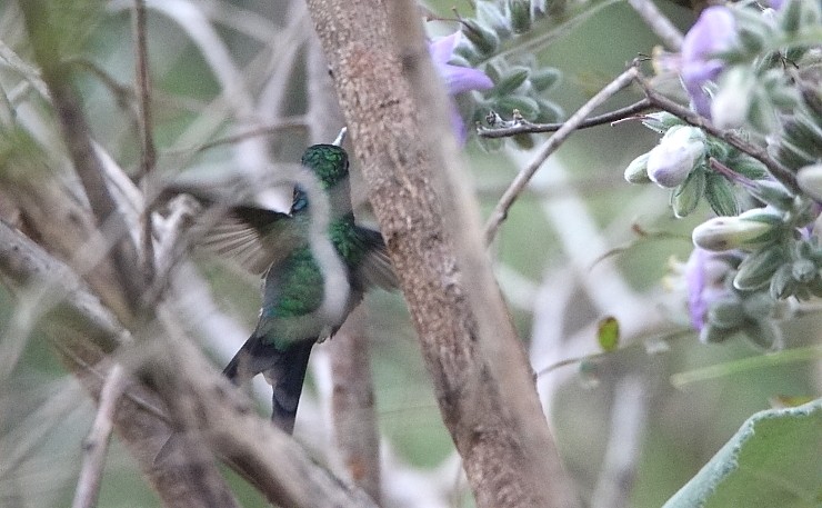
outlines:
M280 349L274 343L251 336L222 373L239 386L263 372L274 391L271 421L291 434L313 345L313 340L301 340Z

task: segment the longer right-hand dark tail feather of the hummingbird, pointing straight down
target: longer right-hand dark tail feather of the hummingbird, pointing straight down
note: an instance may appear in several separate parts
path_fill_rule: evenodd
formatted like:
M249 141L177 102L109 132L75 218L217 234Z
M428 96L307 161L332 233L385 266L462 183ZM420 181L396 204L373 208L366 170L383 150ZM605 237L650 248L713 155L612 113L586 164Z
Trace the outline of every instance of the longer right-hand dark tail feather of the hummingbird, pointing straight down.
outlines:
M297 405L300 402L308 359L313 345L313 341L309 340L295 343L283 351L277 361L278 368L274 369L277 378L273 380L274 395L271 398L271 421L288 434L294 430Z

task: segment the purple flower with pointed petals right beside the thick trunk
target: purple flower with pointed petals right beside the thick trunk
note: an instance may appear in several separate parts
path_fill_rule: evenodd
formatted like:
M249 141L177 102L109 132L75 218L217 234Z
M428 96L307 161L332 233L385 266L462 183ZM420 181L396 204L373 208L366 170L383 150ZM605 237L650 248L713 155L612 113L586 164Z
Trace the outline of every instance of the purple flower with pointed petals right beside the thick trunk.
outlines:
M431 60L434 62L437 73L445 81L448 94L451 96L451 128L461 145L465 143L468 131L465 124L453 101L453 96L470 90L488 90L494 83L484 72L470 67L452 66L449 61L453 58L454 48L460 42L462 32L454 32L448 37L440 38L428 46Z

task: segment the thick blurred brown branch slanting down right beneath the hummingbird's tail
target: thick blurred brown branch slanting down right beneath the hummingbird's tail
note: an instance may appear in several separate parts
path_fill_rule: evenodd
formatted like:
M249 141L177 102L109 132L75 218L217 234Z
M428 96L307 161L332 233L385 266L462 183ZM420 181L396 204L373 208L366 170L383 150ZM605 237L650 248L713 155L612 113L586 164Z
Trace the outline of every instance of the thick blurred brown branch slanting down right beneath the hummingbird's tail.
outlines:
M229 381L184 337L171 307L161 305L159 316L174 369L158 371L158 379L172 377L173 392L162 396L187 431L199 435L277 505L375 507L362 490L332 477L291 436L255 415L248 400L238 399Z

